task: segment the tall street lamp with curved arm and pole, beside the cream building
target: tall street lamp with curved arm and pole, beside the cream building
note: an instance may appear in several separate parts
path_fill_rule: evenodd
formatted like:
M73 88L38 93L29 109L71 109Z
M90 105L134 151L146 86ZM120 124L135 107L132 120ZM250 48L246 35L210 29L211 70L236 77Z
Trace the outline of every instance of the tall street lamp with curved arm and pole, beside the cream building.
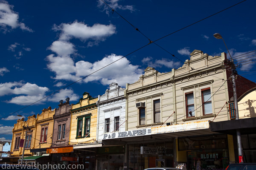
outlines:
M219 33L216 33L216 34L213 34L213 36L216 38L216 39L222 39L226 48L227 48L227 45L224 41L224 39L221 37L221 34ZM228 51L228 54L230 55L230 52L227 48L227 51ZM236 76L235 76L235 72L236 72L236 67L234 66L234 61L230 55L230 59L231 59L231 71L232 71L232 82L233 82L233 92L234 92L234 106L235 106L235 111L236 111L236 119L239 119L239 113L238 113L238 103L237 103L237 94L236 94ZM243 163L244 160L243 160L243 151L242 151L242 142L241 142L241 132L240 132L240 129L236 129L236 137L237 137L237 145L238 145L238 156L239 156L239 163Z

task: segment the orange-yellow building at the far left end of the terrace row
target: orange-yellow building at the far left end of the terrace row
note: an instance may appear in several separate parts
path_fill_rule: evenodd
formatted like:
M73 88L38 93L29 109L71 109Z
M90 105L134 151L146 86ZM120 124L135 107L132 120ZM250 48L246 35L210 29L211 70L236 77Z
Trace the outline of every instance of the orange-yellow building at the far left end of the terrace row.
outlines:
M28 126L28 129L26 127ZM27 139L24 142L24 156L32 156L30 149L35 147L35 136L36 136L36 119L35 115L29 116L27 121L24 121L24 118L18 119L17 123L14 124L12 130L12 145L11 151L13 152L13 157L21 157L23 153L23 147L19 147L20 139L25 140L26 130L27 130Z

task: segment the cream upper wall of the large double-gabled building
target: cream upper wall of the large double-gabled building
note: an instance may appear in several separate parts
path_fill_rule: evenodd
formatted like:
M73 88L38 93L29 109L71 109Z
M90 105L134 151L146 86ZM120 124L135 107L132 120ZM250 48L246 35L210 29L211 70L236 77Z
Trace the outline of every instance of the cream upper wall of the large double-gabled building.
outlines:
M165 121L165 123L182 124L214 119L228 101L227 81L225 81L227 74L224 65L224 60L227 59L226 54L222 53L221 56L212 57L204 54L203 51L194 50L190 55L190 60L186 60L184 65L177 70L159 73L154 68L148 67L137 82L126 85L128 130L147 126L156 127ZM212 114L207 116L203 115L201 107L201 89L204 88L210 88L211 94L214 94ZM198 109L195 111L194 118L186 118L185 93L191 91L194 94L195 109ZM160 123L153 122L153 101L156 99L160 99ZM137 102L145 102L145 125L139 124L139 109L135 107ZM215 121L228 119L227 109L224 108Z

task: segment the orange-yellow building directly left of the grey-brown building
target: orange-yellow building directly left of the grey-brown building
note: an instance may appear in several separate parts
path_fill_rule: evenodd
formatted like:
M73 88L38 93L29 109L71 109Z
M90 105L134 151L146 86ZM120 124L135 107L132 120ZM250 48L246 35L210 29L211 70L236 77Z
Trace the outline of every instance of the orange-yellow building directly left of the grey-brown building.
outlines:
M55 109L49 106L49 108L42 110L41 114L36 118L36 135L34 148L31 152L36 155L42 155L46 153L46 148L51 147L52 144L52 132L53 132L53 115ZM57 135L57 134L56 134Z

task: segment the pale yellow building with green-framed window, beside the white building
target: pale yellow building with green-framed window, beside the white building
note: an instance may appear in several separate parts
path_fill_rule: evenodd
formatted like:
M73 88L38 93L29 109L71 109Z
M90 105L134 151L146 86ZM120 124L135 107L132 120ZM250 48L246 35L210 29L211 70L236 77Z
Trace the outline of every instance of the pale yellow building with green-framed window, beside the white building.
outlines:
M98 98L84 92L83 98L70 110L70 144L73 145L74 153L79 156L79 164L90 157L90 167L95 166L95 148L101 145L96 141L97 100Z

